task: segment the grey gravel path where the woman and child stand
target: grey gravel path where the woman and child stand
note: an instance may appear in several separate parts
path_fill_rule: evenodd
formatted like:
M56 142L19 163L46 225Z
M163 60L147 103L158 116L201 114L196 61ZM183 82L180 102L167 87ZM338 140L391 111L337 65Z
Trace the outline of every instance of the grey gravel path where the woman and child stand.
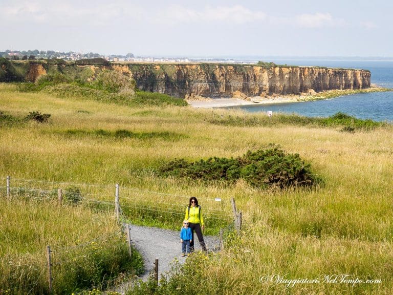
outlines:
M182 257L182 244L180 242L180 230L162 229L139 225L129 225L130 238L135 248L140 252L145 263L145 273L139 278L146 281L149 272L154 269L155 260L158 259L159 279L170 270L170 263L177 258L180 263L186 261ZM194 234L195 251L201 250L198 237ZM220 249L220 238L216 236L204 236L208 250ZM124 293L128 284L120 286L116 291Z

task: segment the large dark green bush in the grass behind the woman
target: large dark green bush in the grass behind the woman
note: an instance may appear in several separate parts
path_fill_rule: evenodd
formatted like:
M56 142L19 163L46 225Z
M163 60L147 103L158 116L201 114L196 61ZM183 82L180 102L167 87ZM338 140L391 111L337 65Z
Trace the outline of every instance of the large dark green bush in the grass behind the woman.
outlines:
M187 177L204 181L222 180L233 182L239 178L254 187L310 186L320 182L311 172L310 164L298 154L286 154L278 147L255 152L248 151L243 157L209 158L187 162L174 159L159 168L163 176Z

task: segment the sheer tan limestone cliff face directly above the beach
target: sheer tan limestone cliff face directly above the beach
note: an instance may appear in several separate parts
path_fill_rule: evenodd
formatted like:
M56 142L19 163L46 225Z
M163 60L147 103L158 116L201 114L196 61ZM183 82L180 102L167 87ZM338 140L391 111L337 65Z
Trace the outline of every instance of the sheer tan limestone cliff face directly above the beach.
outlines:
M244 65L139 65L130 74L142 90L171 96L232 97L299 94L370 87L370 72L316 67L264 68Z

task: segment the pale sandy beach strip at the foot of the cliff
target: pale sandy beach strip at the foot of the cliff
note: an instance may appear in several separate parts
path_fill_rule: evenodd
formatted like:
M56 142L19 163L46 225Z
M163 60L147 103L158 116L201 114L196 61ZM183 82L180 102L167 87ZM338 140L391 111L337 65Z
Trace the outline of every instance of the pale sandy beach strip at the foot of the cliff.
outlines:
M299 96L300 98L300 96ZM273 104L284 102L299 101L296 97L273 97L261 98L252 97L251 100L240 98L206 98L204 100L187 100L188 104L194 108L223 108L223 107L236 107L236 106L250 106L255 104Z

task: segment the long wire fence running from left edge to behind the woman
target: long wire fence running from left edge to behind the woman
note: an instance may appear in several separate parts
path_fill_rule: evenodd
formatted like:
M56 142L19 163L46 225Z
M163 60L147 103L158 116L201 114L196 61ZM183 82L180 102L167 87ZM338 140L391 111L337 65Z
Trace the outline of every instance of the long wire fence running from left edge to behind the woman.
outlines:
M9 198L53 201L62 205L84 205L95 210L116 211L116 208L117 210L121 208L125 220L172 229L178 228L182 223L182 216L186 214L190 199L190 196L181 194L160 193L115 184L55 182L13 177L0 178L0 195L6 195ZM118 197L118 203L116 203L116 197ZM229 200L204 197L198 197L198 200L202 205L202 213L209 234L217 234L220 228L232 222Z

